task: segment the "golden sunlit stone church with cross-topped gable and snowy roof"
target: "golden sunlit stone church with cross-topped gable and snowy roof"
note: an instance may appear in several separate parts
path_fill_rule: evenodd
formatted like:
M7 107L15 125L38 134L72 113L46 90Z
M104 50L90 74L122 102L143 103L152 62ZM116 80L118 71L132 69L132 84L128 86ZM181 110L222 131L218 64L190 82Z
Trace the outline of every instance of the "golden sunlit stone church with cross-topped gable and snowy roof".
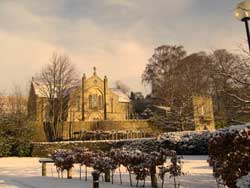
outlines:
M43 86L33 80L31 83L28 111L35 120L46 121L46 97ZM119 89L109 87L108 78L100 78L94 67L93 75L83 74L81 84L69 92L68 122L95 120L127 120L131 114L129 97Z

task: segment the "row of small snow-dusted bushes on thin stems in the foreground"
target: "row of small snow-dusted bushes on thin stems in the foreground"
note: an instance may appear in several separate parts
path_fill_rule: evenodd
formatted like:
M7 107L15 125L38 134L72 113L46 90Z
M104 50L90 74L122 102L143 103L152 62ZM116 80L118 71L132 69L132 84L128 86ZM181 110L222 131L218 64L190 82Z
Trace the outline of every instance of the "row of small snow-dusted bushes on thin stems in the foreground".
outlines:
M151 186L157 187L156 168L163 167L167 159L170 159L172 165L169 166L169 173L173 177L180 174L180 159L176 157L176 152L172 150L159 149L158 151L144 152L134 149L112 149L110 152L89 151L85 148L74 148L72 150L55 150L51 154L55 161L58 176L63 174L64 170L69 170L75 163L85 165L85 179L87 178L87 167L92 167L99 174L105 173L106 178L110 179L112 172L112 183L114 171L123 165L129 172L130 185L132 186L132 174L135 174L137 186L139 181L144 181L147 176L151 177ZM81 173L81 169L80 169ZM87 180L87 179L86 179ZM120 182L122 183L121 173Z

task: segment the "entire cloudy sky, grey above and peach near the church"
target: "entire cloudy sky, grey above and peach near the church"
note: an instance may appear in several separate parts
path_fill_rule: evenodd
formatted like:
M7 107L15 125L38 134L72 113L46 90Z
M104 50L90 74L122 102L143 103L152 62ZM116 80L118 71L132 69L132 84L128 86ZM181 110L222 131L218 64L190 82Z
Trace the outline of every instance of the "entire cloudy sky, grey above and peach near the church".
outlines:
M147 92L141 74L153 49L184 45L188 53L245 43L233 17L237 0L1 0L0 90L27 88L53 52L79 74L121 80Z

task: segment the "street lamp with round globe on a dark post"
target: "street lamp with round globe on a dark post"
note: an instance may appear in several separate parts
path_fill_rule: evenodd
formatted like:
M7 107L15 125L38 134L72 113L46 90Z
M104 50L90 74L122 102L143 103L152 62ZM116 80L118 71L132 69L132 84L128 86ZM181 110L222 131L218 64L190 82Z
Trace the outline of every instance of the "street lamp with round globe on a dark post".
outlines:
M250 19L250 0L246 0L246 1L239 3L236 9L234 10L234 16L238 20L245 23L247 40L248 40L248 48L250 52L250 33L249 33L249 26L248 26L248 20Z

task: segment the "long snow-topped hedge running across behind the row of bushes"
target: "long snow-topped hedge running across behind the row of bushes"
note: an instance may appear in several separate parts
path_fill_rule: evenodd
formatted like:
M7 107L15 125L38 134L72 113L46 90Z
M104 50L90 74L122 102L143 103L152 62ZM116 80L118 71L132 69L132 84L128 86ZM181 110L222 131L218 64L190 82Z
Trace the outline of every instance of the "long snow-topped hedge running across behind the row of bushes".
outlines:
M212 133L208 131L189 131L165 133L158 138L117 140L117 141L63 141L33 143L31 156L47 157L56 149L85 147L90 150L109 151L111 148L140 149L145 152L159 148L175 150L178 155L207 155L208 140Z

